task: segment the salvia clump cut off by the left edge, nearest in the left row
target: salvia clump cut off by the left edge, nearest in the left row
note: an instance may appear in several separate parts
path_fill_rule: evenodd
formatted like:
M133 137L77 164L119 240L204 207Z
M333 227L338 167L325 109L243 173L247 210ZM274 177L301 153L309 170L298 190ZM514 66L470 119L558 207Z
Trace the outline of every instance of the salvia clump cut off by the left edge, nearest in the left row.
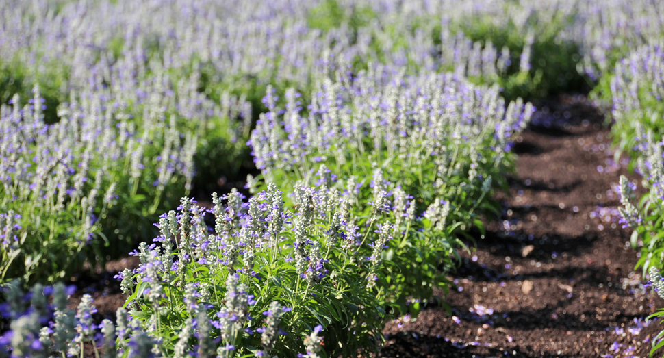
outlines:
M29 102L0 107L0 282L62 279L94 257L86 247L101 239L98 218L116 198L71 127L44 123L38 88Z

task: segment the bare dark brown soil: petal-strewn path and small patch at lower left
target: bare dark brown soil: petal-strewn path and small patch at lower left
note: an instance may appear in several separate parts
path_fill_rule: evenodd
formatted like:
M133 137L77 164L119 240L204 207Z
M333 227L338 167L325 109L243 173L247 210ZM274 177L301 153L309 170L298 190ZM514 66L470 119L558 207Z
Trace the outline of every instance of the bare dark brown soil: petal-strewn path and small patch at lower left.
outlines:
M500 218L463 253L457 287L416 320L389 322L376 357L648 357L659 322L644 318L664 302L643 289L634 272L630 231L618 223L620 175L603 116L583 97L539 103L531 126L517 138L517 170ZM77 278L92 294L97 319L114 318L125 301L118 270ZM660 353L661 354L661 353Z

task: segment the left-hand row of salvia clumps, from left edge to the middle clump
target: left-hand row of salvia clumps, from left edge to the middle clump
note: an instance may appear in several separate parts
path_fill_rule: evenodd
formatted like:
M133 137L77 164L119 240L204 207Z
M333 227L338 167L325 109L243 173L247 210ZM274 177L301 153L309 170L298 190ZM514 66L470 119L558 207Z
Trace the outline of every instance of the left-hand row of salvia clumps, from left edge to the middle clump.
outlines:
M0 281L53 281L86 259L120 255L116 242L151 235L151 220L190 192L196 155L214 159L206 155L214 146L216 157L242 159L232 153L248 124L219 119L251 120L246 102L226 93L214 103L195 77L174 84L156 60L138 81L131 73L141 64L118 61L91 75L55 124L46 123L39 87L25 107L18 96L2 105L0 211L12 221L3 225ZM104 253L102 239L113 243Z

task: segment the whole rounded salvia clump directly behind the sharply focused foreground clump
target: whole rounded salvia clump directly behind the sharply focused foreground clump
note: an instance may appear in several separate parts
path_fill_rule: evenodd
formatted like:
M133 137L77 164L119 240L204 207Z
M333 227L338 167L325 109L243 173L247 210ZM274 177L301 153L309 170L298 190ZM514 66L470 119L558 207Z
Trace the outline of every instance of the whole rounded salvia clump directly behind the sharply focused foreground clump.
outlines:
M506 107L498 88L452 73L409 77L392 70L380 66L353 79L337 72L335 81L319 84L307 107L294 90L283 107L268 92L270 111L261 114L250 142L264 178L306 181L321 164L344 180L379 170L422 211L436 197L449 203L452 217L482 207L487 190L503 184L511 138L532 105L518 100ZM370 187L381 185L376 180Z

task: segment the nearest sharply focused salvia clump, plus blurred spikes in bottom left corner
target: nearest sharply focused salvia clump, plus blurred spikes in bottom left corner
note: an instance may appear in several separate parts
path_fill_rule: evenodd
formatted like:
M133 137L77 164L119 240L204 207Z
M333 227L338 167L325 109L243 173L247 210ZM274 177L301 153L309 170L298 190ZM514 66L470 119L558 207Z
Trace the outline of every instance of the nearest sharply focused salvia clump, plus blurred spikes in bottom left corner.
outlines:
M376 190L368 206L358 201L354 182L318 179L318 187L298 186L298 212L283 209L274 184L248 203L238 192L214 195L210 210L182 199L179 213L162 216L155 244L141 244L134 253L140 267L118 274L133 319L128 324L127 311L119 309L117 327L103 322L103 340L95 335L89 296L73 316L64 309L62 285L56 285L55 307L43 298L50 290L36 285L27 310L20 287L8 286L12 304L3 305L3 315L12 325L0 346L12 348L12 357L78 355L85 342L105 344L118 357L306 352L298 356L314 358L376 348L383 340L385 298L393 295L385 251L416 244L411 238L421 233L408 228L424 219L416 218L412 201L390 200L385 190ZM356 216L363 208L370 216ZM214 228L205 224L207 213ZM24 339L13 339L18 336Z

